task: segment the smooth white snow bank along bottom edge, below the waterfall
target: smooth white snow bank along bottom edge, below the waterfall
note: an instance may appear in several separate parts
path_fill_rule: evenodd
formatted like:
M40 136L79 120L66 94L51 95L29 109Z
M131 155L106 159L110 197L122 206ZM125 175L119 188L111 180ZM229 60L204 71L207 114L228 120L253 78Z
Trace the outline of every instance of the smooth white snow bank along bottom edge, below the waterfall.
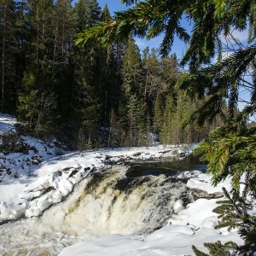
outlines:
M174 256L193 255L192 245L195 245L204 252L204 241L236 241L241 243L241 239L235 233L228 236L221 236L217 230L201 229L191 230L187 226L171 225L146 238L137 236L103 236L94 241L81 241L71 247L64 248L59 256L102 256L102 255L147 255L147 256Z

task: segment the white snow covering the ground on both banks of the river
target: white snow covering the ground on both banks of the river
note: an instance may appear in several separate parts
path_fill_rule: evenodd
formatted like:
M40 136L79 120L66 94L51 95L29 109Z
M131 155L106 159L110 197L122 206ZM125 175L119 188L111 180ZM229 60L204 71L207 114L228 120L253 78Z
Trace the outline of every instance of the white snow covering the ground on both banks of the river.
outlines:
M14 118L1 114L0 134L15 133L14 124ZM60 151L56 150L51 143L45 144L31 137L19 137L19 143L20 140L32 147L26 148L25 153L0 153L0 222L20 217L34 219L42 216L45 209L63 201L67 195L71 194L73 189L84 180L84 177L90 176L92 172L100 172L99 170L109 163L120 163L124 160L151 160L177 154L184 155L191 153L193 149L193 147L157 146L99 149L56 155ZM203 189L210 194L221 192L222 187L228 189L230 181L226 180L224 183L220 183L218 187L213 188L211 178L207 174L201 173L198 177L189 179L187 186ZM113 234L90 238L88 241L73 238L72 243L79 242L70 247L65 247L64 244L62 247L65 248L61 251L62 247L60 246L55 253L61 251L61 256L193 255L192 245L206 251L203 242L231 240L241 244L241 238L236 230L232 232L214 230L214 224L217 224L218 221L218 214L212 212L212 209L217 207L216 201L218 200L199 199L182 209L177 200L174 205L177 213L170 217L165 227L148 236ZM25 223L27 221L25 220ZM117 219L118 221L119 219ZM15 222L9 225L9 234L11 227L15 227ZM57 241L55 242L57 243ZM40 244L38 246L40 247ZM2 247L3 251L1 251ZM0 242L0 253L4 250L6 247ZM24 255L26 254L29 253L24 253Z

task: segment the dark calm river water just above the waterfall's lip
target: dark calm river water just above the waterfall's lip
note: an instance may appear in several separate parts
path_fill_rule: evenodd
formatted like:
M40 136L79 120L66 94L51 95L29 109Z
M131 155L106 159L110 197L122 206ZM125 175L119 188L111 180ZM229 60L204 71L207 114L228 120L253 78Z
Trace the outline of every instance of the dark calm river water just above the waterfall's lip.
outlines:
M131 169L126 172L126 177L143 177L147 175L159 176L165 174L166 177L176 176L183 171L207 171L207 164L189 154L183 160L154 160L150 162L136 162L131 164Z

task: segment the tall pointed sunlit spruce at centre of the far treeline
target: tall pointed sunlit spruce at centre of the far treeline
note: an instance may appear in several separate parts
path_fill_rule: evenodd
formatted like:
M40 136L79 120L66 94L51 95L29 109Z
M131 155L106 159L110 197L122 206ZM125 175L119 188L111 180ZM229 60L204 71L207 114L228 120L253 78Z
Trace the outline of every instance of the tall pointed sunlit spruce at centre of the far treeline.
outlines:
M122 66L122 101L120 118L127 128L128 146L141 145L145 137L145 104L143 102L143 66L141 55L133 38L128 38ZM126 119L122 113L127 113Z

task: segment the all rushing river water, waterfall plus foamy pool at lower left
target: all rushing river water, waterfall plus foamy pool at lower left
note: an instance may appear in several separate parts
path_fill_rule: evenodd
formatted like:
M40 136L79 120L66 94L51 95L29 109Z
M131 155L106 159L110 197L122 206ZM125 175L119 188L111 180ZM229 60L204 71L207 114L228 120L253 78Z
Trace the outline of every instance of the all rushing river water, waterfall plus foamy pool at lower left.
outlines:
M186 180L177 175L201 168L174 161L96 172L42 217L1 225L0 254L56 255L74 242L98 236L149 234L191 200Z

